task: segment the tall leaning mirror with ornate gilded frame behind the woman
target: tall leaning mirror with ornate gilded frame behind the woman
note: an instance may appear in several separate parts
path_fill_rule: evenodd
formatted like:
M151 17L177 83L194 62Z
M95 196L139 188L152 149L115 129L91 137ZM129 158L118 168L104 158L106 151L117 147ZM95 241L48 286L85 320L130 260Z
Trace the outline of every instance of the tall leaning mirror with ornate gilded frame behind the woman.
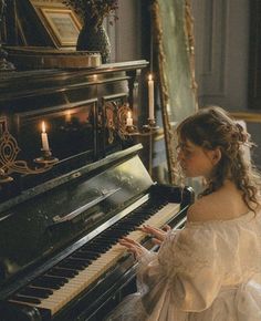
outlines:
M197 110L190 1L153 1L152 23L169 183L177 184L175 125Z

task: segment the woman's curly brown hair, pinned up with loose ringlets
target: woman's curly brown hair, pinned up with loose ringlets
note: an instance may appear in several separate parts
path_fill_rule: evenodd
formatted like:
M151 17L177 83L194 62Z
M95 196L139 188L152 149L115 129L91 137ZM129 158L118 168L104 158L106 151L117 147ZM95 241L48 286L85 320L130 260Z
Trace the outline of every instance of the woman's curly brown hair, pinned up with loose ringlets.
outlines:
M216 166L207 188L199 195L205 196L218 190L226 179L232 180L249 209L255 211L259 203L260 174L243 155L243 145L252 147L249 133L223 108L209 106L200 108L177 127L178 141L190 141L206 149L221 151L221 159Z

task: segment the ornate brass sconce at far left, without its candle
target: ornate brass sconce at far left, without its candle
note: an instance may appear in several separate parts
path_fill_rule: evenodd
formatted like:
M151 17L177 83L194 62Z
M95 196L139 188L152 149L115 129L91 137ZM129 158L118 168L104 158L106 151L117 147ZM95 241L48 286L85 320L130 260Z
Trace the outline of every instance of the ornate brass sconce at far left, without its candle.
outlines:
M31 168L25 161L17 161L18 153L21 149L15 138L4 130L0 138L0 184L10 183L13 178L12 173L19 174L41 174L50 170L58 158L53 157L51 151L42 151L43 155L34 159L40 167Z

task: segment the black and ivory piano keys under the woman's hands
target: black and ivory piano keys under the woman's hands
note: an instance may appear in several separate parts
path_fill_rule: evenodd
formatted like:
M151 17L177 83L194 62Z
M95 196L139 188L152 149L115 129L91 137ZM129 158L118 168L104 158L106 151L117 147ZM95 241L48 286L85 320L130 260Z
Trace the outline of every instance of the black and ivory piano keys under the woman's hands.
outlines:
M122 236L142 242L147 235L137 230L138 226L146 224L160 228L179 211L179 206L158 204L153 209L149 207L149 213L146 213L146 206L142 206L13 294L9 301L48 309L52 315L55 314L126 253L126 249L117 242Z

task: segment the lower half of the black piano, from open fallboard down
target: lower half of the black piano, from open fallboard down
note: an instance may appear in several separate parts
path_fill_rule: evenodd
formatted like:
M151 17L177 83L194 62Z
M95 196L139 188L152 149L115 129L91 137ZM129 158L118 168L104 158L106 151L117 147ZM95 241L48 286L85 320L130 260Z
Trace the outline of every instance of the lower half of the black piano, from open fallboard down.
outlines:
M158 185L135 145L83 166L7 208L0 220L3 321L102 320L132 289L127 236L154 246L143 224L180 228L189 188Z

